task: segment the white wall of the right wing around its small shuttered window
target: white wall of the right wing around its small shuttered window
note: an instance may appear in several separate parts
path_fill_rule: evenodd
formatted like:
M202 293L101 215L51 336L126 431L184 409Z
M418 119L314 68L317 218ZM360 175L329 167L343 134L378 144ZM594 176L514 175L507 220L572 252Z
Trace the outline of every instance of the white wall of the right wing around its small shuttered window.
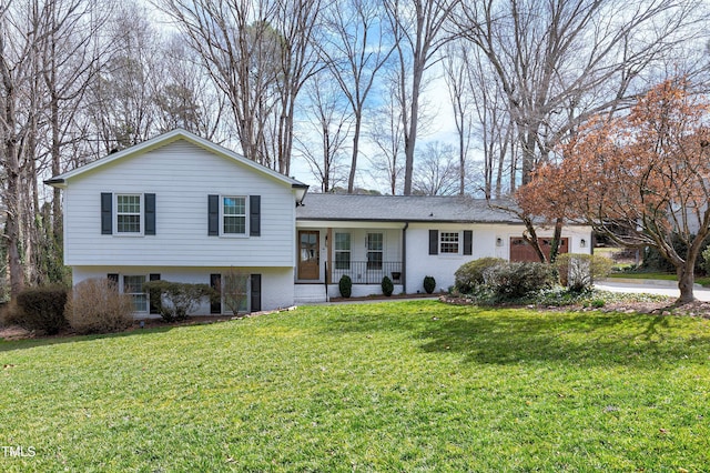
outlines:
M439 232L460 232L459 254L429 254L429 230ZM473 231L473 254L464 255L463 231ZM524 225L491 225L491 224L423 224L413 223L407 230L407 279L406 290L409 293L424 292L424 276L436 279L437 291L447 291L454 285L454 273L464 263L485 256L509 259L510 238L523 235ZM540 229L538 236L549 238L552 230ZM591 230L587 227L567 227L562 236L570 239L570 253L589 253ZM496 245L501 239L501 246ZM585 248L581 248L581 240Z

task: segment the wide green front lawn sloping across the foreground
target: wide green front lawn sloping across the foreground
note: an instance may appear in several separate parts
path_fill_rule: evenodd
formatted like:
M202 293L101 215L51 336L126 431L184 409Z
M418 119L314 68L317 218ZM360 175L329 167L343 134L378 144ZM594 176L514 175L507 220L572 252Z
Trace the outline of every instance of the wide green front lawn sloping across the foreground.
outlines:
M36 455L0 470L704 471L709 353L704 319L433 301L2 342Z

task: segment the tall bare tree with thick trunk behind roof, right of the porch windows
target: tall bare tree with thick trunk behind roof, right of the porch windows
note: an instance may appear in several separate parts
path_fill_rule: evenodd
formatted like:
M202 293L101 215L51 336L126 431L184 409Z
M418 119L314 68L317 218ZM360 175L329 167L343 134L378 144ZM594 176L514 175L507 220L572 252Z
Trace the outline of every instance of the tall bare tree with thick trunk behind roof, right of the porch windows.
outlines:
M445 28L458 0L386 0L385 9L395 41L396 57L400 69L400 108L404 124L404 194L412 193L414 174L414 150L419 120L419 94L426 70L450 36ZM410 70L410 74L405 73ZM412 82L406 83L405 78Z

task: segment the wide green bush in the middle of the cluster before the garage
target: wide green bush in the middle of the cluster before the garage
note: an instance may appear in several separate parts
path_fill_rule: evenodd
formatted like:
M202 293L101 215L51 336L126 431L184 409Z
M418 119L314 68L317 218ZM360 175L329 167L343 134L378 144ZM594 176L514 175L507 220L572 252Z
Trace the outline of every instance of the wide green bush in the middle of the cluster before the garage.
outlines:
M545 263L503 263L484 271L486 288L497 300L523 299L549 289L555 281L554 268Z

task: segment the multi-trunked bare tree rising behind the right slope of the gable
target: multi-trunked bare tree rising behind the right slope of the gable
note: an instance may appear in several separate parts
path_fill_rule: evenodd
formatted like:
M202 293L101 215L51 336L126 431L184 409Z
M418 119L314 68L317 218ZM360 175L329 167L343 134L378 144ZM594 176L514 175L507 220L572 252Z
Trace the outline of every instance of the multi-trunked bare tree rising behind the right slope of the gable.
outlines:
M288 174L295 101L318 61L320 0L162 0L229 98L244 155Z

